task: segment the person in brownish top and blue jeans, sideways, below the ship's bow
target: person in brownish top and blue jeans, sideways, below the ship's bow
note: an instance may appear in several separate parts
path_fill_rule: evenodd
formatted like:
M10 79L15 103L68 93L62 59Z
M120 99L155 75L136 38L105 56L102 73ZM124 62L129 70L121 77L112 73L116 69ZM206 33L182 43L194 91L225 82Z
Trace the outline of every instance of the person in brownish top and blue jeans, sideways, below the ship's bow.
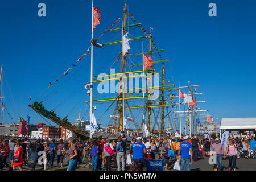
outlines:
M74 138L68 139L68 169L67 171L76 171L77 166L77 147Z

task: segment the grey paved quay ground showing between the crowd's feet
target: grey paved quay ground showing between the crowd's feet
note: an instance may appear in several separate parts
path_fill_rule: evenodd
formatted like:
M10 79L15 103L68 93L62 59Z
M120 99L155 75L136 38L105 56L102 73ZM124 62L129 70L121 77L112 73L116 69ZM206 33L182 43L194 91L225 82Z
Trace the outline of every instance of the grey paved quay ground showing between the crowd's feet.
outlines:
M210 165L209 162L209 157L205 157L204 159L198 160L196 162L193 162L191 164L191 171L213 171L213 165ZM30 161L27 166L23 165L22 169L24 171L29 171L32 169L34 161ZM174 166L175 162L170 162L168 169L170 171L174 171L172 167ZM57 166L57 159L55 160L55 166ZM224 171L228 171L228 159L224 159L222 161L222 166L224 167ZM37 165L36 166L36 171L39 171L42 168L42 166ZM61 169L60 167L57 167ZM67 168L67 159L64 160L64 165L62 169ZM238 171L256 171L256 159L237 159L237 170ZM7 171L8 168L5 167L3 168L3 171ZM18 168L17 168L18 170ZM91 169L87 167L83 168L77 168L77 171L91 171ZM129 167L126 166L126 170L129 170ZM185 167L184 170L187 170ZM113 161L112 161L112 171L117 171L116 167L113 167Z

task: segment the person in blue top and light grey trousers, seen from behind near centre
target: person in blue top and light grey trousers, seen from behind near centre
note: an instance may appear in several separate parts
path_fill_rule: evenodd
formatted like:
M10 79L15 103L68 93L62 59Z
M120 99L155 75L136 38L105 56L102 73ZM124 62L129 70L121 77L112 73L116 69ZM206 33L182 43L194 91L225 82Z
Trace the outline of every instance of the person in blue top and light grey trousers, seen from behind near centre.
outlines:
M120 162L122 162L122 171L125 171L125 142L122 141L122 137L118 137L117 143L117 170L121 171Z

